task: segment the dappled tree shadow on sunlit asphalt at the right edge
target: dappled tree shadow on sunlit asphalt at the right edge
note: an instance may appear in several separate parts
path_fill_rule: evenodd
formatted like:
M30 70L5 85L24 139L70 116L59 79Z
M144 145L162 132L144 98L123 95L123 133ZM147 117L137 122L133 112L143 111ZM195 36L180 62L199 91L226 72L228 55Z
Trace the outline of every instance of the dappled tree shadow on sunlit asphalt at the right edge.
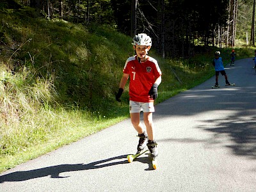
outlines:
M198 127L205 131L214 132L215 142L221 143L221 138L228 137L232 144L225 145L237 156L248 156L256 159L256 116L239 113L226 118L205 120L206 124L215 124L214 127Z

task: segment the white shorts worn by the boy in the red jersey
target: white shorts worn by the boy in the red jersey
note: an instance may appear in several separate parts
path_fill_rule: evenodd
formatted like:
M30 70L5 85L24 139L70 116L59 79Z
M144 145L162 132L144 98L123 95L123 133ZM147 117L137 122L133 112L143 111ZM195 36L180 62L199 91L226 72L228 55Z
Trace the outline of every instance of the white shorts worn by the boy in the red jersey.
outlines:
M140 111L155 112L154 102L136 102L130 100L129 109L130 113L140 113Z

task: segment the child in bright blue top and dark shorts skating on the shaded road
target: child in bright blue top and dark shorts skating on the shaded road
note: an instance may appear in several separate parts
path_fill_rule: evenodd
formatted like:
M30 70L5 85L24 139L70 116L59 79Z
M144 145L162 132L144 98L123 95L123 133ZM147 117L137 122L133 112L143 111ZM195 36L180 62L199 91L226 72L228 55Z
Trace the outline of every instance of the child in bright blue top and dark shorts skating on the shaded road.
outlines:
M221 74L222 76L225 77L226 85L231 85L228 82L228 77L224 70L223 61L222 61L222 58L220 57L220 51L216 51L214 55L215 55L215 58L212 61L212 65L215 68L215 78L216 78L216 83L215 83L214 87L219 87L219 83L218 83L219 74Z

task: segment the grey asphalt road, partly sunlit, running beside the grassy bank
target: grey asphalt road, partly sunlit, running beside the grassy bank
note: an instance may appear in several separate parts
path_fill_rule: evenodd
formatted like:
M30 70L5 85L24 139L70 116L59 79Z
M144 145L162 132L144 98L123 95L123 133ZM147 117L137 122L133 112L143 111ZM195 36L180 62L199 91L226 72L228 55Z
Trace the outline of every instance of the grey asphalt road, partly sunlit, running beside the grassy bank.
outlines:
M157 170L125 120L0 174L0 191L256 191L256 74L252 58L156 106ZM161 86L159 86L161 88Z

